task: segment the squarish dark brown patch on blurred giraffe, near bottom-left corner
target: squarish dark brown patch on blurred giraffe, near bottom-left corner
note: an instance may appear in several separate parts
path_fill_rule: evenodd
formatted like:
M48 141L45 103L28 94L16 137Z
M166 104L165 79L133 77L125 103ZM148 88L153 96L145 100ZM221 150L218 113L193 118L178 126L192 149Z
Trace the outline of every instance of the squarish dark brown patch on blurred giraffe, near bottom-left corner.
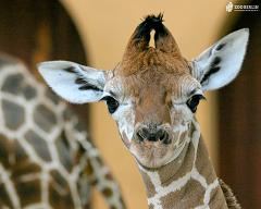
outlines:
M40 202L41 187L39 180L16 182L15 188L17 190L22 207Z

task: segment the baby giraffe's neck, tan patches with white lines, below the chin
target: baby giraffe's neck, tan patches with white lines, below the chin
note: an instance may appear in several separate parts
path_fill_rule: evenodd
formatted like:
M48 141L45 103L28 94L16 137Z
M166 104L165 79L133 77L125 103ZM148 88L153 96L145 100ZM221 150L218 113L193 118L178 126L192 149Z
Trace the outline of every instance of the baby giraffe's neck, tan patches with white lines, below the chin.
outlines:
M139 165L150 209L227 208L197 122L190 136L169 164L157 170Z

